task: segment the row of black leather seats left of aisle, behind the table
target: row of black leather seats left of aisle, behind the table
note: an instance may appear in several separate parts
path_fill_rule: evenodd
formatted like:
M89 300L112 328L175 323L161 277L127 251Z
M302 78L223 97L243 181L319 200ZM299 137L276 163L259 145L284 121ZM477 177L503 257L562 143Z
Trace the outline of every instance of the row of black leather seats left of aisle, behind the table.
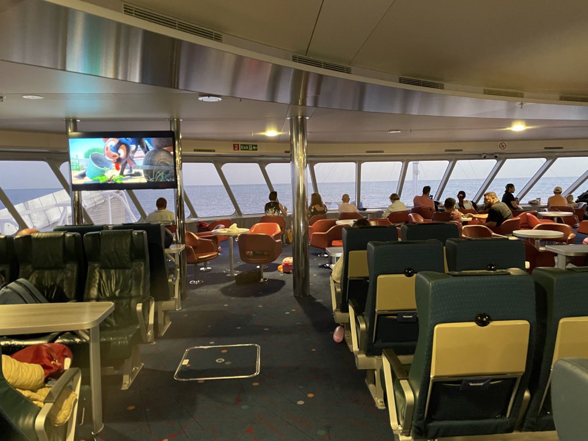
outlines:
M177 268L173 267L168 275L162 248L163 226L66 228L76 232L0 236L0 271L7 281L28 279L49 302L113 302L113 313L101 324L101 359L103 366L123 368L122 389L127 389L142 367L139 343L155 338L155 304L160 334L169 326L164 308L175 309L176 305ZM139 228L148 229L156 237L148 240L148 232ZM160 229L159 233L156 229ZM88 366L88 344L83 333L11 336L0 339L0 345L2 352L11 353L49 341L69 346L75 365Z

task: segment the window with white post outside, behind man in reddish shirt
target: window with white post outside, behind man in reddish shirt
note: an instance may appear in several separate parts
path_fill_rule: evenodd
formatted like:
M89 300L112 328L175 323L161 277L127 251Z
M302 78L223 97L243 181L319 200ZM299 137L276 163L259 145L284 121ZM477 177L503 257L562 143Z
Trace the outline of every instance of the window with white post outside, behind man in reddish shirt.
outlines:
M412 206L412 200L423 194L423 187L431 188L430 195L437 200L437 188L445 174L449 161L411 161L406 169L406 178L400 200Z

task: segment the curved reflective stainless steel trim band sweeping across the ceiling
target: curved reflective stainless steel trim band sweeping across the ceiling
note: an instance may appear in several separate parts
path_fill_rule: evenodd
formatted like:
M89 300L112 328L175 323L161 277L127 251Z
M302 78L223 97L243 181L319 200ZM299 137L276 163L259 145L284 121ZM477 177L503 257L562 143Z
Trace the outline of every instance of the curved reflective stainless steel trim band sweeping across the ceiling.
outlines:
M409 115L588 119L583 105L410 90L236 55L42 0L0 10L0 59L166 88L291 105ZM284 64L288 61L284 60ZM353 77L356 78L356 77ZM376 83L377 82L377 83Z

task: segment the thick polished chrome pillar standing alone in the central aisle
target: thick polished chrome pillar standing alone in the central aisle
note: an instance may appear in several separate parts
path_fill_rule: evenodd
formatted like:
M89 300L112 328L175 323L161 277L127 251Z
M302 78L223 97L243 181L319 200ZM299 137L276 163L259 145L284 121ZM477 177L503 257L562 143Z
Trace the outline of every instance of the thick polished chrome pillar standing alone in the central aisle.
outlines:
M306 117L290 117L292 167L292 253L294 296L310 295L308 262L308 213L306 210Z

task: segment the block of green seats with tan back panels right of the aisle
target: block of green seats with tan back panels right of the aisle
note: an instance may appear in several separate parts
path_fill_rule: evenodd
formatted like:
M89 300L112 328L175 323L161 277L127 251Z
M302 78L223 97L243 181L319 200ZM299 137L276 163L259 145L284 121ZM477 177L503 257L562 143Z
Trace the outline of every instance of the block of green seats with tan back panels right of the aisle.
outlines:
M553 363L588 357L588 268L530 276L521 240L433 228L343 230L333 312L376 406L415 439L553 430Z

